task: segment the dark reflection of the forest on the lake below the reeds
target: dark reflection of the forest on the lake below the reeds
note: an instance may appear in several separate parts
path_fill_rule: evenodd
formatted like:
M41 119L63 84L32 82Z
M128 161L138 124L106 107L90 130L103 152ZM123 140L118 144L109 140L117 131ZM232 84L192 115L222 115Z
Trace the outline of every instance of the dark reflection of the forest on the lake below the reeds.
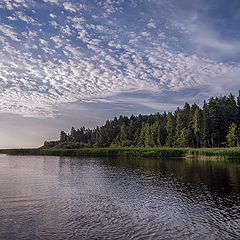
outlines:
M97 162L96 162L97 161ZM240 163L234 161L207 161L153 158L60 158L64 174L91 167L93 174L108 178L112 172L134 174L142 184L167 186L196 201L210 202L212 206L231 208L240 200ZM94 170L94 168L96 168ZM81 172L81 171L80 171ZM84 171L82 171L84 172ZM64 177L64 174L62 177ZM76 178L75 174L71 174ZM69 178L70 176L67 176ZM109 178L114 181L113 178ZM116 188L119 186L115 185ZM239 202L239 201L238 201Z

